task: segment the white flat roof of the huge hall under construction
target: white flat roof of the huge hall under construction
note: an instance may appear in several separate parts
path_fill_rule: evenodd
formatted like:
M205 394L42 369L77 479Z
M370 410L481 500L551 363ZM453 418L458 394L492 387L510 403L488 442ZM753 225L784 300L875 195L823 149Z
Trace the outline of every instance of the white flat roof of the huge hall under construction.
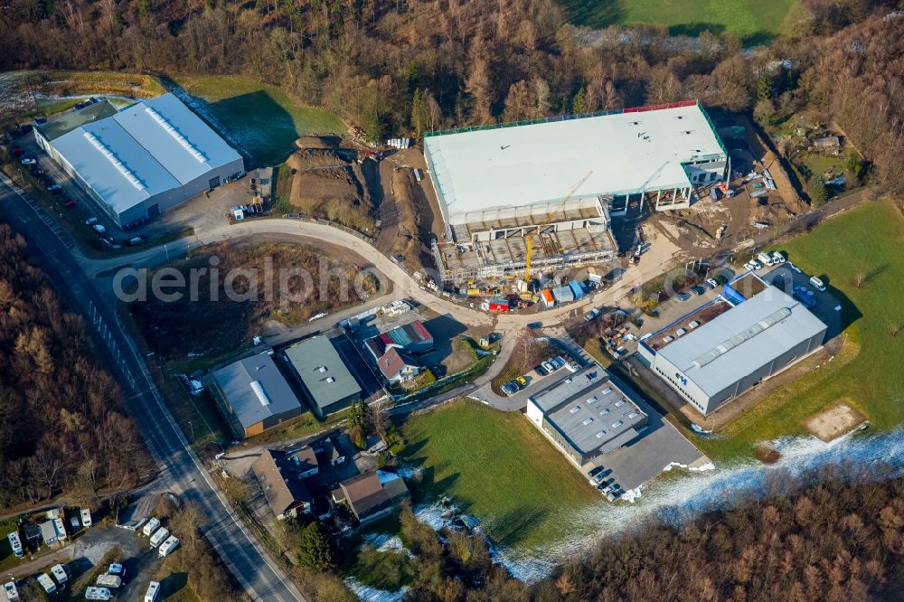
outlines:
M726 156L699 102L473 128L424 138L450 215L690 186L683 163Z

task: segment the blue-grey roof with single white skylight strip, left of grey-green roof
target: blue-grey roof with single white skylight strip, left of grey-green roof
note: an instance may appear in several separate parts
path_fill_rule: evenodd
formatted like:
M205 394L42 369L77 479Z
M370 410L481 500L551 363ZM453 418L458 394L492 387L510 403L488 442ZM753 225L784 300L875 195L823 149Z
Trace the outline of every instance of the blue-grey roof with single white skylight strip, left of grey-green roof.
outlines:
M246 357L213 372L213 379L242 427L301 407L268 352ZM257 385L253 383L257 382ZM253 386L252 386L253 385Z

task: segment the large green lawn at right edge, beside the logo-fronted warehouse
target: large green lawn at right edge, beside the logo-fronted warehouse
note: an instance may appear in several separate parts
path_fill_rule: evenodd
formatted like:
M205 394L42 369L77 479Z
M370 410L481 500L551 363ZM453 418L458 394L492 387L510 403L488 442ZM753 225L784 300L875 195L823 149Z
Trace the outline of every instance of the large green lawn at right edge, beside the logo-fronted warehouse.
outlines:
M805 271L824 275L842 299L842 352L731 422L720 431L724 438L694 437L711 457L746 456L759 441L805 435L804 420L841 399L874 429L904 422L904 218L890 202L861 205L782 249ZM851 282L858 272L867 275L859 288Z

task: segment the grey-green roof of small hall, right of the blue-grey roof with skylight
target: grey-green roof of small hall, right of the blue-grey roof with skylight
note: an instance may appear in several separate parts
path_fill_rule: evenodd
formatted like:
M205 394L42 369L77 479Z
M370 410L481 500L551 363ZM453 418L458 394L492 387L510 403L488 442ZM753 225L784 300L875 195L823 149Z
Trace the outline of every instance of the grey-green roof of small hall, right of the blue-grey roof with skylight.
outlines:
M325 336L314 336L286 349L286 359L320 409L361 394L361 386Z

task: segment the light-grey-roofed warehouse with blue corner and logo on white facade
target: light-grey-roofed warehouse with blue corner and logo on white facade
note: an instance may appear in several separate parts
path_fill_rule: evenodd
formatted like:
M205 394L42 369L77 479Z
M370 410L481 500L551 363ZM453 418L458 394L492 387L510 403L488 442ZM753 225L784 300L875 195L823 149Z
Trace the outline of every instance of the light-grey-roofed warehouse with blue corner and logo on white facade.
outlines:
M826 325L753 272L642 337L640 358L704 416L819 350Z

